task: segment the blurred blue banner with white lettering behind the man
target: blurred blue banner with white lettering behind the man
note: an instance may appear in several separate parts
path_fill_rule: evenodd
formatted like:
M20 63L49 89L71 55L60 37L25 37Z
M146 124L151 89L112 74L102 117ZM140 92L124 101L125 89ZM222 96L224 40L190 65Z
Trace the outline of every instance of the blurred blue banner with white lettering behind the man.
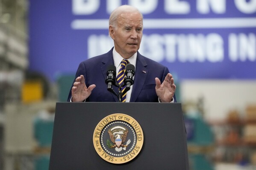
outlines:
M185 78L256 78L256 0L31 0L29 69L54 80L113 46L109 14L144 15L139 52Z

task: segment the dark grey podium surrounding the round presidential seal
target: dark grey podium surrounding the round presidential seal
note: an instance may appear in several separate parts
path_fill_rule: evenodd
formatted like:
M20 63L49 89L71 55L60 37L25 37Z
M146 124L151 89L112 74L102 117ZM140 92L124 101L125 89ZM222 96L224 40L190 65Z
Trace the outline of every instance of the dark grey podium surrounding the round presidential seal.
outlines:
M140 124L144 142L131 161L112 164L94 148L94 130L106 116L122 113ZM56 103L49 170L188 170L180 103Z

